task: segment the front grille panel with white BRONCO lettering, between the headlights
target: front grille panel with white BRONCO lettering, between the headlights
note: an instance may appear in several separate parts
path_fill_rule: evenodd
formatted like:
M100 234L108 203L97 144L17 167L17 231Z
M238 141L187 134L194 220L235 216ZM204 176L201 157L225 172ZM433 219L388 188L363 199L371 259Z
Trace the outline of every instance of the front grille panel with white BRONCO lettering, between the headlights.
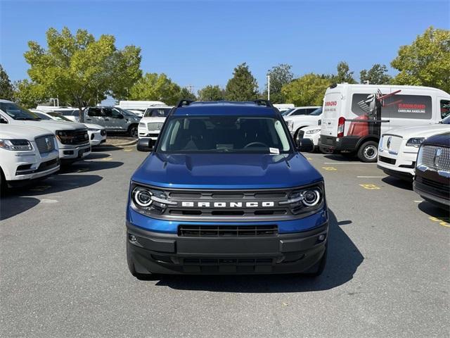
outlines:
M134 210L152 218L178 222L226 222L232 225L233 222L293 220L317 213L326 205L323 182L286 189L248 190L162 189L132 182L131 191L136 185L163 191L170 202L176 203L167 205L162 213L157 214L146 213L131 203ZM293 192L313 187L321 191L318 205L285 204Z

